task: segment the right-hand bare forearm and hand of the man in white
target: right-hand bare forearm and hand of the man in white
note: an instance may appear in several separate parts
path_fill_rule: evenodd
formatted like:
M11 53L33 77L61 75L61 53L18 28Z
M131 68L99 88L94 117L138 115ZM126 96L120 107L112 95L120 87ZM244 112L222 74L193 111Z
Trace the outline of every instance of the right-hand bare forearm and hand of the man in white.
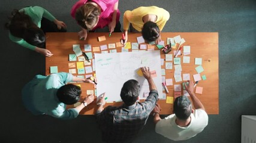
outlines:
M191 80L188 80L188 85L185 84L185 89L188 91L188 94L191 97L191 100L193 102L193 105L195 109L202 109L205 111L204 105L201 103L201 101L195 96L194 93L194 83Z

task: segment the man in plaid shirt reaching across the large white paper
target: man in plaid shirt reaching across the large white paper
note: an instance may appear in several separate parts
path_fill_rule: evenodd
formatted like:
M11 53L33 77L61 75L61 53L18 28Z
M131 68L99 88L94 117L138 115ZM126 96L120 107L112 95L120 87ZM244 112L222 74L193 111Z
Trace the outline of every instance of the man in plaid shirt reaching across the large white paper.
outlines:
M132 142L146 125L147 118L156 105L158 92L150 74L149 67L141 67L143 76L149 83L149 96L144 102L136 102L140 93L140 84L131 79L124 83L120 107L108 106L104 96L97 102L97 122L103 133L104 142Z

